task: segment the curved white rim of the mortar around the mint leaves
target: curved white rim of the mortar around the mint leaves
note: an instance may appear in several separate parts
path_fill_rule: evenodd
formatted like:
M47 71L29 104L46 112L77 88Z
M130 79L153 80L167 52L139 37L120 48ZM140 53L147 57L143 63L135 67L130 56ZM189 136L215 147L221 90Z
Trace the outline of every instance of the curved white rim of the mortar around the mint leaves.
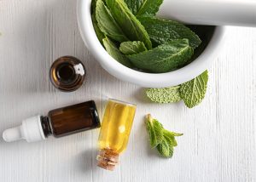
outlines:
M102 47L94 31L91 13L91 0L78 0L77 15L79 30L86 47L90 50L102 67L114 77L125 82L143 86L145 88L165 88L175 86L197 77L216 60L218 48L224 37L224 27L217 26L207 48L189 65L176 71L166 73L146 73L132 70L114 60Z

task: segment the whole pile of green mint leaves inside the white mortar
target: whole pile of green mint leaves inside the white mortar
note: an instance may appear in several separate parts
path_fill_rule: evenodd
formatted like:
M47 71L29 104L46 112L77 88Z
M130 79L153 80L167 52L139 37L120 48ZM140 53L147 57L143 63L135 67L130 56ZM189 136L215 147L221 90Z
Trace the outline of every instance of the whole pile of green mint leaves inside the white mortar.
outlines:
M152 73L189 64L201 40L187 26L156 18L161 3L163 0L92 0L93 26L108 54L130 68Z

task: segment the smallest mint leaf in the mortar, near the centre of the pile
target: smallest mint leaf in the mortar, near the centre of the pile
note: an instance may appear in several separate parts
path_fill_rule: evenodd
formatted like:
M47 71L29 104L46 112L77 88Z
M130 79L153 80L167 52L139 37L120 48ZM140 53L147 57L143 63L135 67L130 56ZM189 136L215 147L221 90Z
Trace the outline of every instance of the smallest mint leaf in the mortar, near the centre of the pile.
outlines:
M143 51L146 51L147 48L145 47L145 44L140 41L134 41L134 42L124 42L120 44L119 50L122 54L125 55L131 55L131 54L138 54Z

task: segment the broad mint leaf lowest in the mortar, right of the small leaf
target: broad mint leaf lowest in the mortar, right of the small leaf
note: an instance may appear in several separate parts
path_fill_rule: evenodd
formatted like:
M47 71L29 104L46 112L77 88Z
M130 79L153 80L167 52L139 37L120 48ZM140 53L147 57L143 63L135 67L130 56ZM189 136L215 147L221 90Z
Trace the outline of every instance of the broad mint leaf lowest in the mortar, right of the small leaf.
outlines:
M127 57L137 68L162 73L185 65L193 52L193 48L189 47L188 39L177 39L143 53L127 55Z

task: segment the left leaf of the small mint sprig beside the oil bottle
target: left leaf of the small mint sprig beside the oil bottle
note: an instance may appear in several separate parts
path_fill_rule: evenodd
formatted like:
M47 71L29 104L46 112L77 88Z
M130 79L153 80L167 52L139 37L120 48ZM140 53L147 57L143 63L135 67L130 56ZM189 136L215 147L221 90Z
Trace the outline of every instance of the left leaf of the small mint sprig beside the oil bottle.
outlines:
M146 117L146 125L152 148L156 147L163 139L163 126L156 119L152 118L150 114Z

